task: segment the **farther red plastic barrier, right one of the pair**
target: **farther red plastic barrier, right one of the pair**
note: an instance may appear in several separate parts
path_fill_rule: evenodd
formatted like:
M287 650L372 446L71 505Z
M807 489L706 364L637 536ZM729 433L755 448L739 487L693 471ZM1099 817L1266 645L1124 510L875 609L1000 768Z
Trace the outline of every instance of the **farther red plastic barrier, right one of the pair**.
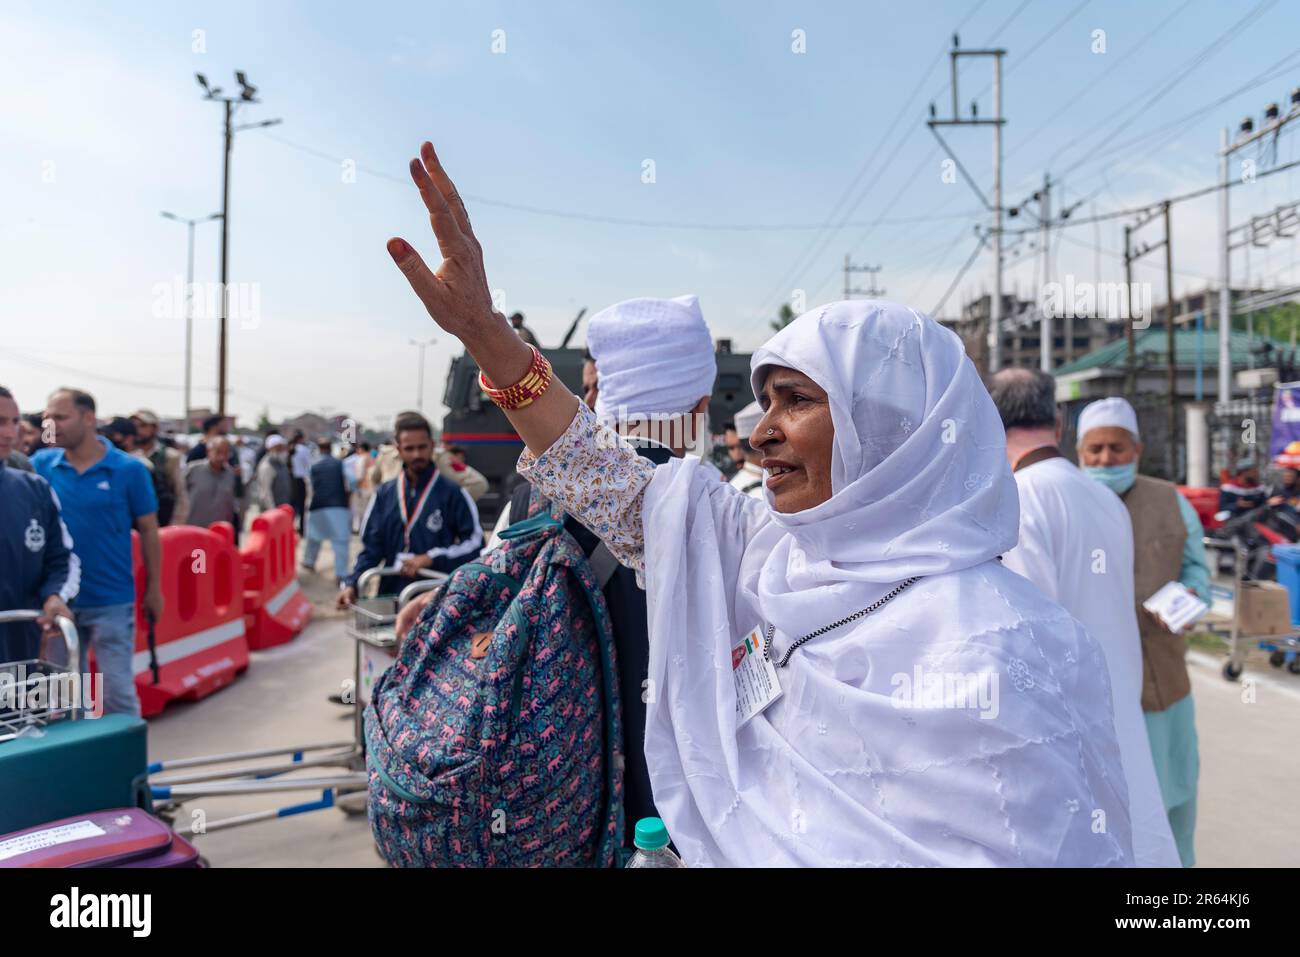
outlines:
M290 506L272 508L252 520L252 531L239 549L248 648L282 645L312 616L312 603L298 586L296 557L298 534Z

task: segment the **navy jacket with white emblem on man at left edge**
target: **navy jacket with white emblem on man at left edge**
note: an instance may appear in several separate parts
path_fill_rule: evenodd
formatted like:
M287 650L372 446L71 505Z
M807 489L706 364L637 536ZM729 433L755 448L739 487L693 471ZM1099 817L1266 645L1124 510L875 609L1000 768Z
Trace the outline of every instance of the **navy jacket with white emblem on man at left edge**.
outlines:
M39 610L52 594L72 603L81 562L49 482L0 462L0 609ZM0 624L0 662L35 658L39 650L35 624Z

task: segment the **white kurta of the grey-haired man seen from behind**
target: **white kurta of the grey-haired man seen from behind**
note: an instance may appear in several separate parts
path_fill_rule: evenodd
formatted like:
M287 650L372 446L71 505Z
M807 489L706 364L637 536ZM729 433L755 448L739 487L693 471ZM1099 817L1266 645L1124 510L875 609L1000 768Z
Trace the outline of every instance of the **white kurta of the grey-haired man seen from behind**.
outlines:
M1141 714L1141 638L1134 610L1134 542L1119 498L1067 459L1015 473L1019 544L1004 564L1074 615L1101 645L1128 781L1139 867L1178 867Z

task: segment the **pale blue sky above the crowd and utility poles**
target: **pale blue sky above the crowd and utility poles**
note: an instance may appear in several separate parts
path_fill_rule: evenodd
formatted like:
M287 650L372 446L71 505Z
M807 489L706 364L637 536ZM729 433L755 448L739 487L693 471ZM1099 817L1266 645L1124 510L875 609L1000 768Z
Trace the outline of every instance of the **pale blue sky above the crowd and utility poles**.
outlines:
M965 46L1008 51L1008 203L1050 169L1067 203L1087 199L1078 216L1213 182L1219 127L1269 100L1286 109L1300 86L1292 0L6 0L0 381L23 408L74 384L105 413L179 411L183 320L159 298L183 276L185 229L159 211L204 216L221 200L220 108L195 72L229 88L246 70L264 103L239 118L283 120L240 133L233 160L230 278L260 307L231 332L229 404L246 421L269 407L373 423L415 404L408 339L438 330L384 242L400 234L434 255L404 172L424 138L469 198L490 283L545 343L580 307L696 293L715 334L750 348L794 290L809 306L838 298L845 254L881 264L889 298L932 309L985 221L965 182L942 181L924 127L931 99L949 109L958 26ZM1213 56L1197 62L1202 49ZM988 75L980 61L963 69L963 111L983 92L991 112ZM988 130L948 139L988 189ZM1300 159L1292 135L1278 159ZM1286 172L1235 190L1234 221L1297 186ZM1213 196L1175 207L1179 291L1214 281L1216 224ZM1119 229L1069 230L1053 274L1119 278ZM216 280L218 235L199 228L200 282ZM1249 263L1268 283L1300 281L1296 265L1295 241ZM1236 276L1245 267L1239 256ZM982 256L942 313L985 290L989 268ZM1037 270L1022 250L1008 287L1032 298ZM1158 257L1138 278L1164 298ZM214 321L195 337L195 404L212 404ZM441 413L452 351L442 337L428 352L426 411Z

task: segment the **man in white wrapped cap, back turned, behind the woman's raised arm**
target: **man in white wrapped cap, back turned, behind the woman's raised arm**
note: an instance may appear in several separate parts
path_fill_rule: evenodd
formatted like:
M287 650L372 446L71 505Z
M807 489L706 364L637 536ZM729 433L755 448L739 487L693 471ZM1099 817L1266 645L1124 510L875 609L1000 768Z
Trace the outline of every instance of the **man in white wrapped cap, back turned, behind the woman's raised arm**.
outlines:
M601 309L588 324L586 346L598 376L595 413L602 421L656 465L688 452L707 455L712 441L708 402L718 361L696 296L628 299ZM707 460L706 467L712 468ZM500 529L528 516L530 492L528 482L515 488L489 549ZM576 519L567 519L564 527L592 557L597 576L602 576L602 568L608 573L604 601L618 649L625 759L623 804L630 848L637 820L658 817L645 759L646 700L651 694L646 685L650 651L646 593L637 585L636 572L618 564Z

